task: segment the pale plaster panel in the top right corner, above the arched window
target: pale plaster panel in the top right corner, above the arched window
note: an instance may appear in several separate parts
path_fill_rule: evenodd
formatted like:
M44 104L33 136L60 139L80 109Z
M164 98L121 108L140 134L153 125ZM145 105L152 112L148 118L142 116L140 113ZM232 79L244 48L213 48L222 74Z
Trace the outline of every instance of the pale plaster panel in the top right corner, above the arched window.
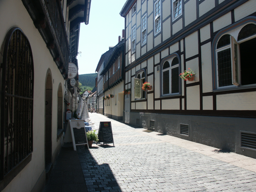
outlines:
M255 0L249 0L249 1L245 2L244 4L235 8L235 10L234 10L235 21L238 21L240 19L243 19L244 17L247 17L248 15L254 13L255 10L256 10Z

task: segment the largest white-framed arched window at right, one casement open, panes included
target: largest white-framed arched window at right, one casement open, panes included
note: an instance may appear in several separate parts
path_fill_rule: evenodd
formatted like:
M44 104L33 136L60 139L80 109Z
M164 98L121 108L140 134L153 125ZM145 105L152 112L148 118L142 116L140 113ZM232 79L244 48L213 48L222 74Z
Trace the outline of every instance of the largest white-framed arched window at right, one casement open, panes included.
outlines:
M256 24L240 25L222 33L214 45L216 58L215 89L256 85L250 75L255 66Z

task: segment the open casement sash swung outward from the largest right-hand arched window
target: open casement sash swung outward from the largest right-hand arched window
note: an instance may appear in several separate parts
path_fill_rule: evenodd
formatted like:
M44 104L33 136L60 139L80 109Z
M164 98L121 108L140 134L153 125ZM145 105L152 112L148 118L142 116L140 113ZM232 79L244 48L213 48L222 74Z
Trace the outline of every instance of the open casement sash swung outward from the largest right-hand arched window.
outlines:
M239 85L239 57L238 57L238 43L234 37L230 36L231 43L231 68L232 68L232 84Z

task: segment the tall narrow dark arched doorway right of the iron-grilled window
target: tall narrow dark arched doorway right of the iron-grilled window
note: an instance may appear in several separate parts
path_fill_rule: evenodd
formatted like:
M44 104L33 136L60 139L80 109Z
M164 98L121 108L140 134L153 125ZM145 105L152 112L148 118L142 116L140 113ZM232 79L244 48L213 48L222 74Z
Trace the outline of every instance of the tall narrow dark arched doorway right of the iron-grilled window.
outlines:
M45 171L52 166L52 76L48 69L45 81Z

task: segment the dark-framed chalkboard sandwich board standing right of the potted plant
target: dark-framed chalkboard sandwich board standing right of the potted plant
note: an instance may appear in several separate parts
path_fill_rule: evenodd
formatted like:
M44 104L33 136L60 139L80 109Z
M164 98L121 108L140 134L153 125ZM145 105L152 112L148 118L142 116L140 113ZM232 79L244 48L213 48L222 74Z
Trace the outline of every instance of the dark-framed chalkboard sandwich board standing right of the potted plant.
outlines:
M114 145L114 139L113 139L113 133L112 133L112 127L111 127L110 121L100 121L98 138L99 138L98 142L103 142L103 145L108 143L113 143Z

